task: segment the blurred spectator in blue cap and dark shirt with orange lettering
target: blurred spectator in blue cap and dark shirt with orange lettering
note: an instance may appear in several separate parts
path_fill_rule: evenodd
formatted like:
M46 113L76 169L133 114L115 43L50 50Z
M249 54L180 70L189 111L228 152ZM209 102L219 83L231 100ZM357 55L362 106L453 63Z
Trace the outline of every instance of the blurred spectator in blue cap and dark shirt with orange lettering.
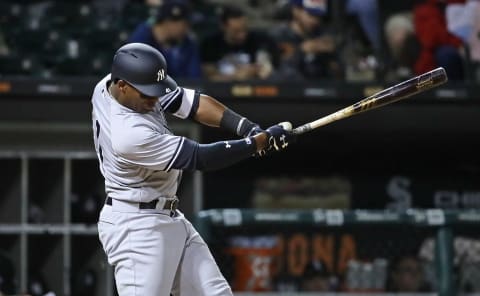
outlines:
M326 25L327 1L290 0L291 20L274 30L284 78L340 78L333 32Z

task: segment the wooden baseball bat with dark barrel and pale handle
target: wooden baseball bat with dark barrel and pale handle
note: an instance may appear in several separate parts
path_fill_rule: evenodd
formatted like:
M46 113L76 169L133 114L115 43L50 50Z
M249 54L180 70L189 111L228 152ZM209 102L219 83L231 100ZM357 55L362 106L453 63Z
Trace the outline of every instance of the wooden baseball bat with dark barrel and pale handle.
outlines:
M327 125L334 121L344 119L365 111L369 111L393 102L406 99L410 96L427 91L448 81L447 73L443 68L437 68L430 72L418 75L409 80L403 81L392 87L384 89L368 98L365 98L353 105L345 107L330 115L306 123L292 130L294 134L300 135L318 127Z

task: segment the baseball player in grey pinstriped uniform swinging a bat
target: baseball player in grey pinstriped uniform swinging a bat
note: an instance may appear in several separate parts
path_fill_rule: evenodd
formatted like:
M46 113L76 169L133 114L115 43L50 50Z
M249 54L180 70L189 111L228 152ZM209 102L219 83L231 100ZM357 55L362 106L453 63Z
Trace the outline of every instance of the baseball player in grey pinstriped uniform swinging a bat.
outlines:
M145 44L117 50L95 87L95 150L105 178L100 241L120 296L233 295L207 245L177 210L182 170L219 169L294 139L257 124L198 91L177 86L162 54ZM221 127L240 140L199 144L175 136L164 112ZM288 128L287 128L288 129Z

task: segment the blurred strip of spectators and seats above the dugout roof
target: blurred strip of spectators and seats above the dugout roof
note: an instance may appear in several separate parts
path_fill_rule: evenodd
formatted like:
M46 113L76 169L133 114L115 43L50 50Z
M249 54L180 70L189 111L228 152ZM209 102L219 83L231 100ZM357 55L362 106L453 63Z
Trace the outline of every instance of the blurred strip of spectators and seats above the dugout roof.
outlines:
M0 75L101 75L126 42L178 79L478 80L478 0L1 1Z

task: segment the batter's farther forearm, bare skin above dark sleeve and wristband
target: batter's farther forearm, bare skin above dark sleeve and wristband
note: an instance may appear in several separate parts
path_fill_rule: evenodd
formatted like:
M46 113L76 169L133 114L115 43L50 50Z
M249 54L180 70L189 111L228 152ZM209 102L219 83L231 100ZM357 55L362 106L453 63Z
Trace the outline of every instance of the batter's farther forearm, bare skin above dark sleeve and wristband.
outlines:
M208 126L221 127L242 137L247 136L254 127L258 126L206 95L200 96L194 119Z

